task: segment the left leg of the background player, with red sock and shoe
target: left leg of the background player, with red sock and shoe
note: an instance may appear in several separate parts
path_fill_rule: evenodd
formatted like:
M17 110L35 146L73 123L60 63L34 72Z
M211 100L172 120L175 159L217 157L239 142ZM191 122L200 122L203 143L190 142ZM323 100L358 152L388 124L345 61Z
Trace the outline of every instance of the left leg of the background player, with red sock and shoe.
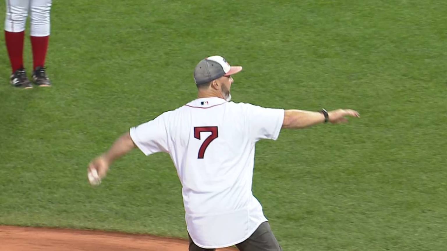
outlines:
M23 43L30 0L6 0L5 2L4 38L13 70L10 81L15 87L32 88L23 67Z

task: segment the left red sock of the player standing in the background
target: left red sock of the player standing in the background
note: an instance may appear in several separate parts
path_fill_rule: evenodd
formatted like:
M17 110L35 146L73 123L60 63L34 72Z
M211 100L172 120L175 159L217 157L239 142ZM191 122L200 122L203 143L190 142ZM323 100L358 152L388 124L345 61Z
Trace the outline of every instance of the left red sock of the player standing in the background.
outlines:
M9 32L4 31L6 49L8 50L9 61L13 72L23 68L23 42L25 40L25 31Z

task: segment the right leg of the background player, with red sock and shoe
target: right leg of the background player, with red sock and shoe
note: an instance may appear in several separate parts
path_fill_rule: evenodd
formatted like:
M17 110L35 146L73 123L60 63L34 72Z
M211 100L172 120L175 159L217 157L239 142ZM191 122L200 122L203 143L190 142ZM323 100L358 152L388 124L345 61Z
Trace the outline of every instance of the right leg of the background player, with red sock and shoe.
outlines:
M45 59L50 38L51 0L31 0L31 48L33 50L33 81L38 86L50 86L45 72Z

